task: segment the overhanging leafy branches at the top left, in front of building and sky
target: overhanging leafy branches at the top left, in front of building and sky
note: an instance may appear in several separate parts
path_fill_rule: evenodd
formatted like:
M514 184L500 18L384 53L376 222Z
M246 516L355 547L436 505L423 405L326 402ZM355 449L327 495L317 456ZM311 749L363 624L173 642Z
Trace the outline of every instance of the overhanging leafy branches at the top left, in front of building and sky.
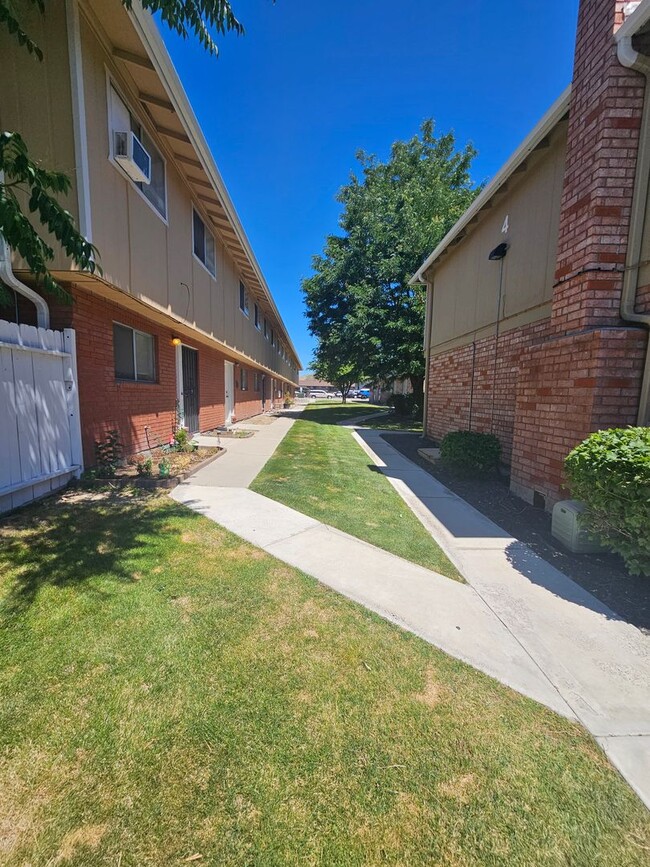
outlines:
M201 45L217 54L213 32L224 34L244 32L235 17L229 0L136 0L144 9L160 13L165 24L186 38L194 34ZM122 0L130 9L133 0ZM46 0L0 0L0 27L5 27L37 60L43 52L23 28L19 8L33 6L45 14ZM69 300L68 294L52 277L48 262L54 258L52 246L43 239L25 213L24 202L42 229L47 229L65 253L83 271L98 269L98 251L79 233L74 218L59 202L59 196L71 189L70 179L61 172L47 171L29 156L27 144L19 132L0 134L0 234L17 250L30 271L40 280L46 292ZM0 302L6 295L0 283Z

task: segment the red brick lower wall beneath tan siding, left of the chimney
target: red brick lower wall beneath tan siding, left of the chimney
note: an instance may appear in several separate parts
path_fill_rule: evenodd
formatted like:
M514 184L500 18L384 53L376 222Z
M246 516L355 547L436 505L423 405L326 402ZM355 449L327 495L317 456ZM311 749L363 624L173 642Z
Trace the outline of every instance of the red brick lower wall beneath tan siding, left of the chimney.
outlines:
M475 348L470 344L431 356L427 434L440 440L449 431L469 430L471 403L471 430L495 433L501 441L502 460L509 463L521 354L548 330L546 318L502 332L496 354L496 377L494 336L476 341Z

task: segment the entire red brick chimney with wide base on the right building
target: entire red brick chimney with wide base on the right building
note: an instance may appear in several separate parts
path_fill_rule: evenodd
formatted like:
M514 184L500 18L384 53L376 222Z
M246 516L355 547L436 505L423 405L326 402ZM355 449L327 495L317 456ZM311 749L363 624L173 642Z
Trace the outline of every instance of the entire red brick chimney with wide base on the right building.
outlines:
M582 0L549 333L520 367L512 488L550 507L567 453L634 424L645 330L619 314L645 79L623 67L621 0Z

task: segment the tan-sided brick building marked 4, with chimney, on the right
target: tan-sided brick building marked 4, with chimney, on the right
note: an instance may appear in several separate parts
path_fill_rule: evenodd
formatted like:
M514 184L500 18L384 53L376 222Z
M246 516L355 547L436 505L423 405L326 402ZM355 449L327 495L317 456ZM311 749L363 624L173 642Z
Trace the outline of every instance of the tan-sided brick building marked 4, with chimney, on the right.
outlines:
M591 431L649 424L650 0L582 0L571 87L413 282L425 429L492 431L550 508Z

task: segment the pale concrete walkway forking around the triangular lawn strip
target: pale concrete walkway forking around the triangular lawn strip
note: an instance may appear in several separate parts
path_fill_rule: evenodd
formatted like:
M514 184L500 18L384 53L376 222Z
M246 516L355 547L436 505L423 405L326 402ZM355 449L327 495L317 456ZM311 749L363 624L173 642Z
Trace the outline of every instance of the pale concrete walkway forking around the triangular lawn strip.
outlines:
M592 732L650 806L650 641L381 438L369 462L456 562L468 584L247 490L293 420L251 439L173 492L226 527L447 653ZM214 442L214 441L212 441Z

